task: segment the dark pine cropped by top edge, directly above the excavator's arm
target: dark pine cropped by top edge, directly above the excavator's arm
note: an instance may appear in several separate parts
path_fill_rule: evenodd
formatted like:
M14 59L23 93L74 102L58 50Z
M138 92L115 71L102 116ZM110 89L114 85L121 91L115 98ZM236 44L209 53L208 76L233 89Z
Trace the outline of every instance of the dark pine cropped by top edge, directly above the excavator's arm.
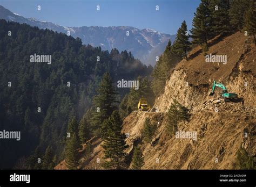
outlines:
M225 35L231 31L230 17L228 15L229 9L229 0L210 1L212 31L214 35Z

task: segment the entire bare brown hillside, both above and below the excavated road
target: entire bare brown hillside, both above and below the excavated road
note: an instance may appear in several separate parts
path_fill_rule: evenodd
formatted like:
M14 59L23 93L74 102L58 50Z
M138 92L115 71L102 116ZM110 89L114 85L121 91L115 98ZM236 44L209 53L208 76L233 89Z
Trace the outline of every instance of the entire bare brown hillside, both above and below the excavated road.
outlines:
M133 146L142 143L145 165L143 169L232 169L235 153L240 145L251 156L256 155L255 120L255 46L247 44L248 38L238 32L223 40L210 41L208 54L227 55L227 64L206 63L200 47L194 48L189 60L178 63L166 80L154 107L159 112L133 111L123 123L126 153L131 157ZM226 85L229 92L236 92L241 102L221 102L218 92L208 96L213 80ZM194 138L171 137L165 131L166 112L173 99L191 109L189 123L178 125L179 131L194 133ZM158 124L154 146L142 141L141 132L145 118ZM244 132L248 138L244 138ZM91 140L92 141L92 140ZM103 162L102 141L92 141L94 152L90 163L83 169L101 169ZM99 163L97 163L99 159ZM56 169L65 169L64 162Z

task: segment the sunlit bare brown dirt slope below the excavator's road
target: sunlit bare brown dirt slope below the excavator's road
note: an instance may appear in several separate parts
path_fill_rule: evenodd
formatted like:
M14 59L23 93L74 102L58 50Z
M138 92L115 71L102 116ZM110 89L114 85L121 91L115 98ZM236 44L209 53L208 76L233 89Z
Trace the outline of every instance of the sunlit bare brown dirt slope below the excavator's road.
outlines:
M214 110L216 106L218 112ZM240 108L238 103L214 104L214 100L210 100L201 111L193 111L190 123L180 123L179 130L197 132L196 141L171 138L165 132L166 113L161 112L132 112L124 121L123 131L130 133L127 143L132 148L132 141L141 136L138 130L143 126L143 117L159 122L156 146L142 143L144 169L232 169L241 143L248 152L256 153L256 121L251 117L255 112L249 107L244 107L241 112ZM247 140L243 138L246 129L251 134ZM218 163L215 163L216 158Z

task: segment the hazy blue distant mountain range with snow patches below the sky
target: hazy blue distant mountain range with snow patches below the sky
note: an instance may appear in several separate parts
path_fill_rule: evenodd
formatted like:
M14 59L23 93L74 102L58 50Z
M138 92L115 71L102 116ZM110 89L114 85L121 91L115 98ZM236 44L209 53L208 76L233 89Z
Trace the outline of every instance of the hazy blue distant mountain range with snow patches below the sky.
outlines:
M72 37L79 37L83 44L90 44L94 47L100 46L103 50L111 51L117 48L119 51L129 51L134 57L140 59L145 64L154 66L156 56L164 52L169 39L173 42L176 35L164 34L149 28L140 30L131 26L82 26L66 27L48 21L40 21L36 18L24 18L13 13L0 5L0 19L26 23L38 28L68 33ZM129 31L129 36L126 35Z

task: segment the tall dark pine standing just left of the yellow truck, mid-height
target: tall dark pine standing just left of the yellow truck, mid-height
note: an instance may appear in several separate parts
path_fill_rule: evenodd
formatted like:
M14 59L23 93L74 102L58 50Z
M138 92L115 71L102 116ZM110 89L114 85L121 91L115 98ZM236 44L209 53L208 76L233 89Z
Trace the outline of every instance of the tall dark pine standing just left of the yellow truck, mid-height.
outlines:
M109 118L112 112L117 109L117 106L114 105L114 103L117 103L116 97L117 91L113 87L112 78L109 73L105 73L99 83L97 95L93 98L95 111L93 112L91 123L96 135L99 135L99 128L102 126L103 121Z

